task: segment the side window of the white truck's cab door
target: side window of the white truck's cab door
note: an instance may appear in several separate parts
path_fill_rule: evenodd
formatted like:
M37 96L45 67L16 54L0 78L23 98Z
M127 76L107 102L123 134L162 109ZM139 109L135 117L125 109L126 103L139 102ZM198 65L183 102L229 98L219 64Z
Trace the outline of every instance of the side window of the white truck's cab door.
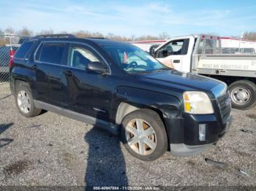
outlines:
M166 44L157 51L157 58L165 58L169 55L187 55L189 39L181 39Z

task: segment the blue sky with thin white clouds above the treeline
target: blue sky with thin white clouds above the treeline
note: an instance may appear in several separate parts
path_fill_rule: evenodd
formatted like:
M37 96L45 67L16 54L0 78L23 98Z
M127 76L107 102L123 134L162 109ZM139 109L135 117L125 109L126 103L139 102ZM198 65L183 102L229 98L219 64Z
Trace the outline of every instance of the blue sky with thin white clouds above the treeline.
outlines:
M1 0L0 29L92 31L124 36L256 31L256 1Z

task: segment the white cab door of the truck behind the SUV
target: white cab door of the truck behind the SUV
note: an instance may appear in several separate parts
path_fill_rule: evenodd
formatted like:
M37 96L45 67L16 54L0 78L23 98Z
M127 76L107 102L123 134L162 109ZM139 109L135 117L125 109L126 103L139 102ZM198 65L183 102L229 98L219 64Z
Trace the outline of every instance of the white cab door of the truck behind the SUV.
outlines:
M165 65L171 63L178 71L190 72L194 44L194 36L171 39L156 49L155 58Z

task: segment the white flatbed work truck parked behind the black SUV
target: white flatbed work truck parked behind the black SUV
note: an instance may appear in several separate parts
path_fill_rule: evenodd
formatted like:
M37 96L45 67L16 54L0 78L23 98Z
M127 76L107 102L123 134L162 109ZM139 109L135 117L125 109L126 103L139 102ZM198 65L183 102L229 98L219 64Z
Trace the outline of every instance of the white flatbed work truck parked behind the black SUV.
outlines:
M250 109L256 104L256 54L227 54L219 36L176 37L159 45L151 55L178 71L227 83L235 109Z

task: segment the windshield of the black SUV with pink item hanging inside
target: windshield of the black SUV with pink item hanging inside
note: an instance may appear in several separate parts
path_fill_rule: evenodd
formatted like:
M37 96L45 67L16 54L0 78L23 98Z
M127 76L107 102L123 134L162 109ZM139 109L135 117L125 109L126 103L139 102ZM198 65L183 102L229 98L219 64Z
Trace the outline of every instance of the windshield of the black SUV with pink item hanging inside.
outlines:
M105 44L103 49L127 73L150 73L169 69L148 53L130 44Z

